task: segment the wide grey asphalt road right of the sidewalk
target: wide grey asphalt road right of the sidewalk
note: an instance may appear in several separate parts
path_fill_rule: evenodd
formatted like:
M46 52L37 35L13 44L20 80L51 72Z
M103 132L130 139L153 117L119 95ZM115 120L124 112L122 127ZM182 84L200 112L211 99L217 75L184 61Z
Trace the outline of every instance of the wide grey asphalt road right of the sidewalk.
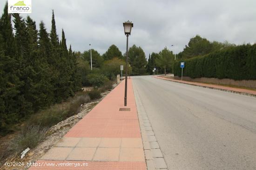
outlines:
M256 170L256 98L133 77L169 170Z

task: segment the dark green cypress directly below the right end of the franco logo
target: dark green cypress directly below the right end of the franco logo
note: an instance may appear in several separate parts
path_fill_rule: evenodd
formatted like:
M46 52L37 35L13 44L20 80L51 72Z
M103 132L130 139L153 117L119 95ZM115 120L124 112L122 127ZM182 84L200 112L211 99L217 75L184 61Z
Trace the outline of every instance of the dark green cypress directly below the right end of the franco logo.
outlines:
M38 31L35 22L28 16L26 20L27 39L29 43L28 56L31 62L27 66L27 78L30 83L27 85L26 99L33 103L33 111L49 106L53 101L50 75L47 59L40 54L40 44L38 45ZM49 42L48 42L49 43ZM25 88L26 89L26 88Z

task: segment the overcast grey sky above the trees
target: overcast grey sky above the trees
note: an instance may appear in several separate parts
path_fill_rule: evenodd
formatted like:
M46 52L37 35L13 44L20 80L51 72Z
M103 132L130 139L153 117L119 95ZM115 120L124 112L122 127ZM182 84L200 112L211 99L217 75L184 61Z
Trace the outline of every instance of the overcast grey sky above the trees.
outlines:
M0 0L3 11L5 0ZM165 46L176 53L196 34L210 41L256 43L256 0L32 0L37 23L57 32L63 28L73 50L92 48L103 54L111 44L126 50L122 23L134 23L129 46L141 46L146 57ZM23 14L27 16L27 14ZM171 45L175 47L171 47Z

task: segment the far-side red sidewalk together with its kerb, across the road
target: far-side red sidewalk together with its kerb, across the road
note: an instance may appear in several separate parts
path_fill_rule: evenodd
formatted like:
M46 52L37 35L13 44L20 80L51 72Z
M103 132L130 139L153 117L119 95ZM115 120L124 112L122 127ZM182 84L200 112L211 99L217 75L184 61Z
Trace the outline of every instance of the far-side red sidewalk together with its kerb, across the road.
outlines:
M188 81L184 81L184 80L175 80L175 79L164 78L164 77L159 77L159 76L156 76L155 78L159 78L162 80L168 80L168 81L172 81L172 82L183 83L183 84L194 85L194 86L200 86L203 88L211 88L211 89L235 93L235 94L247 95L250 97L256 97L255 90L249 90L249 89L244 89L244 88L232 88L232 87L227 87L227 86L222 86L222 85L217 85L217 84L206 84L206 83L202 83L202 82L188 82Z

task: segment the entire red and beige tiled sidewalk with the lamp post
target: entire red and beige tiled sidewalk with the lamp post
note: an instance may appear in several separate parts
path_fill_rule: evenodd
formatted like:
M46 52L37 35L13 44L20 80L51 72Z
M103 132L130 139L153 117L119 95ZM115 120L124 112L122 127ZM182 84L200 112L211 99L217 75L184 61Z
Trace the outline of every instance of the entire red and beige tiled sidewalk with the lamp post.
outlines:
M29 170L146 170L132 80L127 107L124 86L122 81Z

